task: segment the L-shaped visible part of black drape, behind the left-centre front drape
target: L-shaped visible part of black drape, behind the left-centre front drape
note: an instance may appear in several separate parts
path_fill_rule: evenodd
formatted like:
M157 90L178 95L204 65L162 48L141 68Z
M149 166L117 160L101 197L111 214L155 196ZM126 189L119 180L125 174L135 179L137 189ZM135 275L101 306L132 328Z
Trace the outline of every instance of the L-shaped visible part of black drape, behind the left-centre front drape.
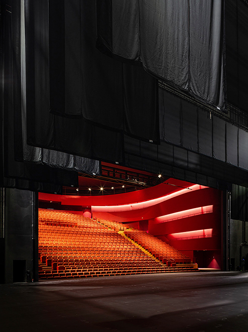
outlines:
M121 162L121 132L95 126L83 118L65 118L49 111L48 2L25 0L24 4L28 145L89 159Z

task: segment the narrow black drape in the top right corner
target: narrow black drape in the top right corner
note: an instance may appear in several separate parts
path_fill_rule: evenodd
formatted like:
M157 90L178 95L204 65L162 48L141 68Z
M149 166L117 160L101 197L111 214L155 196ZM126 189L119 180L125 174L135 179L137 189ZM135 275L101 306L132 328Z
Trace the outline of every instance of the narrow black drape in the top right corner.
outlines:
M225 1L227 100L248 112L248 3Z

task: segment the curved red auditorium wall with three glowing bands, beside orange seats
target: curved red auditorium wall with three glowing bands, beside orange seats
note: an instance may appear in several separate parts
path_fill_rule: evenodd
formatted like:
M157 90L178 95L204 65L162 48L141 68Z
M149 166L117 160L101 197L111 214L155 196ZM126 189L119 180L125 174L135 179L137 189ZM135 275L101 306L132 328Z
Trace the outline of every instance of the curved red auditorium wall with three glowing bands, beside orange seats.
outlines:
M81 206L87 217L92 213L92 218L121 221L136 229L148 230L191 258L198 251L209 251L206 264L209 267L220 266L221 191L175 179L168 182L189 189L160 184L118 195L39 194L39 198L61 202L62 205ZM213 257L212 252L215 252Z

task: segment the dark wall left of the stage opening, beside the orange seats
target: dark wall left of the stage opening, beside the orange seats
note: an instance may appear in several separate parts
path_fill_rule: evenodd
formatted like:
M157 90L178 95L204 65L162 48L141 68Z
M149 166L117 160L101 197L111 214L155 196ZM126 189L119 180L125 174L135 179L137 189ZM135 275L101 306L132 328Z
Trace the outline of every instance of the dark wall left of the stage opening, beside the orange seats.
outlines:
M5 283L38 281L35 205L33 192L5 189Z

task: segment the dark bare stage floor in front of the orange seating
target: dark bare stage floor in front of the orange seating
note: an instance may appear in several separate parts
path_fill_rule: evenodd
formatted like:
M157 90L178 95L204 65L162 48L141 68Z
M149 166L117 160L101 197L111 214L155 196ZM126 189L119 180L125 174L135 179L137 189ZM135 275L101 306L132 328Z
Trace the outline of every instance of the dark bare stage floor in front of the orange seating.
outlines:
M0 285L1 332L248 332L248 272Z

